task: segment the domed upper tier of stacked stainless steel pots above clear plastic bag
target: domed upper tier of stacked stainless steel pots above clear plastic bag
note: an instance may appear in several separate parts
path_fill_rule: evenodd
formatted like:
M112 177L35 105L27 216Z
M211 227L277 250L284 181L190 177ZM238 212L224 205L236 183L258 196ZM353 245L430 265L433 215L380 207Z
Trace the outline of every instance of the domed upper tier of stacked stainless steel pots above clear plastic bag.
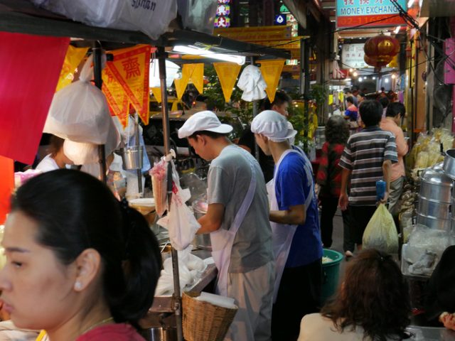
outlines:
M439 169L427 168L420 175L420 196L437 202L451 202L452 180Z

